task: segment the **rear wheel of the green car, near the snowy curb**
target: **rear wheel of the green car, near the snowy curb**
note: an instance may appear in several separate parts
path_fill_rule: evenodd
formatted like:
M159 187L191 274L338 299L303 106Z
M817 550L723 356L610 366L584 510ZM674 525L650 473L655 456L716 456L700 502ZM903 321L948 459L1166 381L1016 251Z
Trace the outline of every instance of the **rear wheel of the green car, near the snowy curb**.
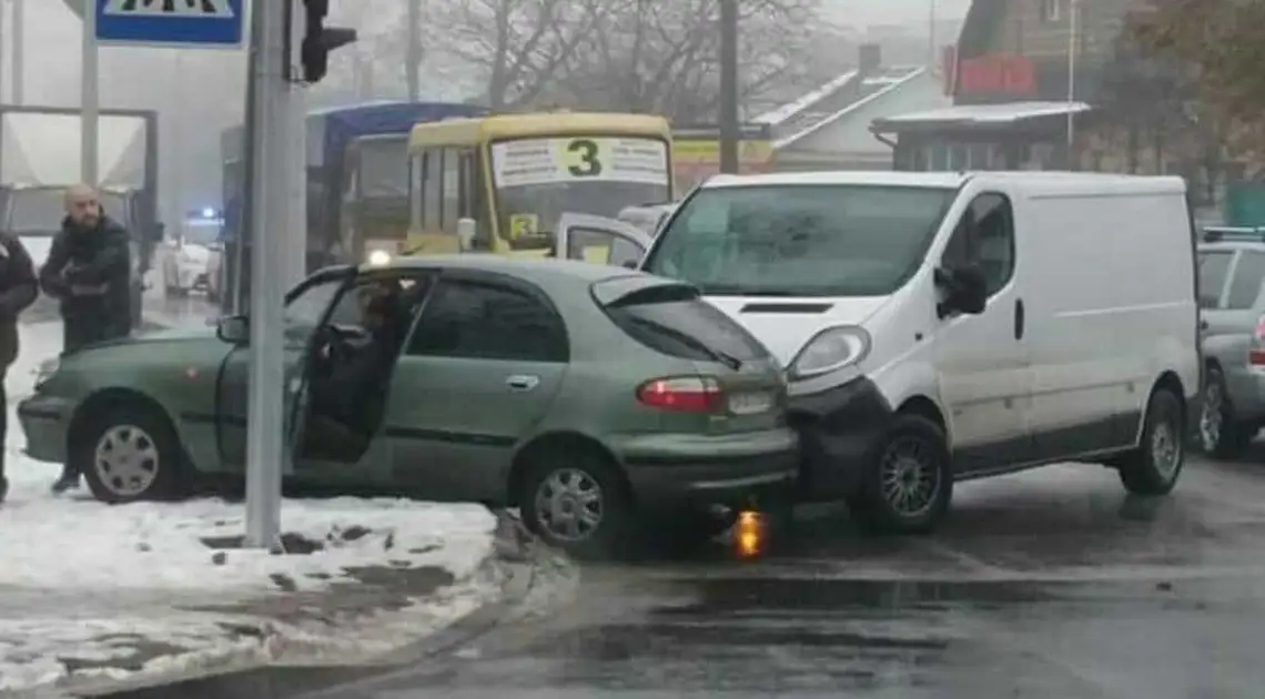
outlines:
M550 546L581 557L607 557L630 532L632 498L616 466L593 450L536 454L520 488L524 522Z

